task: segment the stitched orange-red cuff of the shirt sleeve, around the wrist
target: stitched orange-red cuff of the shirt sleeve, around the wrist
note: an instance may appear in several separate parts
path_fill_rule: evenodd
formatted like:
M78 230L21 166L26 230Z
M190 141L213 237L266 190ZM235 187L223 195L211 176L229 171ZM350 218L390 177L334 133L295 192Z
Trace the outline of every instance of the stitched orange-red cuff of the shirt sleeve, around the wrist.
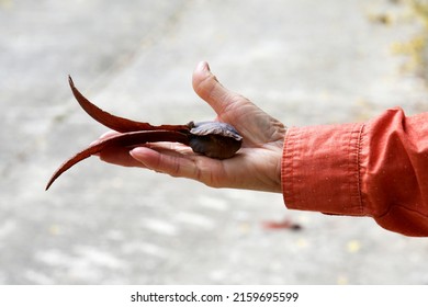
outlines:
M360 143L363 124L289 128L281 163L285 206L361 216Z

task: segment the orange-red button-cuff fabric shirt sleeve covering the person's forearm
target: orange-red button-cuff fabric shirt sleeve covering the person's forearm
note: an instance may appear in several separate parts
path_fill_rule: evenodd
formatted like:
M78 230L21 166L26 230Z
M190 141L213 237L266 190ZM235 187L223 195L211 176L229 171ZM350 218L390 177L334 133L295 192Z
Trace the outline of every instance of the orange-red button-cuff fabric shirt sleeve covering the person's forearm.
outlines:
M290 128L281 180L288 208L370 216L428 236L428 113L393 109L364 124Z

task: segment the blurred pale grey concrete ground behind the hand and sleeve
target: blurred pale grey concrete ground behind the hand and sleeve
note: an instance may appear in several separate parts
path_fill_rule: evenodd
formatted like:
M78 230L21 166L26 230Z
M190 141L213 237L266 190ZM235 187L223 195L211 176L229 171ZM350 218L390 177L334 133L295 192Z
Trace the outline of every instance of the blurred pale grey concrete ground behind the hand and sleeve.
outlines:
M97 158L44 191L105 132L68 73L104 110L155 124L214 116L192 91L200 60L286 125L365 121L428 109L391 48L418 31L386 0L0 0L0 283L427 284L427 239L286 211L278 194ZM302 229L262 227L284 218Z

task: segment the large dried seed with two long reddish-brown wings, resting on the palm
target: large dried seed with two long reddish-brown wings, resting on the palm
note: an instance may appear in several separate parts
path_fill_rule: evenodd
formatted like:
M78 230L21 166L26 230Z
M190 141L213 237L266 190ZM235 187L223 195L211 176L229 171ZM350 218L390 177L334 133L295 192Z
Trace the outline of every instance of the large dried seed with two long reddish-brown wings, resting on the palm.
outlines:
M65 161L47 182L46 190L72 166L109 147L135 147L146 143L177 141L190 146L194 152L216 159L230 158L240 148L243 137L228 124L190 122L187 125L153 126L149 123L131 121L110 114L91 103L75 87L71 77L68 77L68 82L80 106L93 120L122 134L97 141Z

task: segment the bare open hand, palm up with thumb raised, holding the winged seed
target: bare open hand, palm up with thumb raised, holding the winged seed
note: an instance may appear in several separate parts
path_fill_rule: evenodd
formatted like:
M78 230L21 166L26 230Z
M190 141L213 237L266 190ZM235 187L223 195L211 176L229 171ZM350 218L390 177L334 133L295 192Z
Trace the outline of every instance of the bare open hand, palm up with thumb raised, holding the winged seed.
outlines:
M194 154L176 143L153 143L142 147L110 148L101 160L123 167L140 167L172 177L189 178L212 187L281 192L281 159L286 127L248 99L224 88L207 62L198 65L193 89L217 114L216 121L233 125L244 137L239 151L216 160ZM101 136L105 138L115 132Z

